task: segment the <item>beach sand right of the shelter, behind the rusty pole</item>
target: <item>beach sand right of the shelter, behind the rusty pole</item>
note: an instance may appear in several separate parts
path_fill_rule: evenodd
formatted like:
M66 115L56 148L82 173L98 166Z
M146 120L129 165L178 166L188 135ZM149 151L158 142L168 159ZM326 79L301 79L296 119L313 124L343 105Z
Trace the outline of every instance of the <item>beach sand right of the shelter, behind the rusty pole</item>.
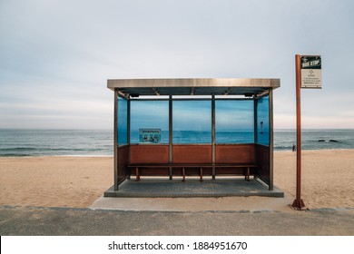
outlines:
M301 198L310 209L354 208L354 150L302 151ZM274 184L296 195L296 152L275 152Z

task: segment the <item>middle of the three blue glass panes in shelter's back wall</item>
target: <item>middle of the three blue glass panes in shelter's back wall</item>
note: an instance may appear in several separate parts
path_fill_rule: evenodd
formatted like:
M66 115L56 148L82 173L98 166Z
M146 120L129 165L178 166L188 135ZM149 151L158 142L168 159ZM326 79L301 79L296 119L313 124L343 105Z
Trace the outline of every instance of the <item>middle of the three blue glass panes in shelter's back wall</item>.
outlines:
M211 101L173 101L173 143L211 143Z

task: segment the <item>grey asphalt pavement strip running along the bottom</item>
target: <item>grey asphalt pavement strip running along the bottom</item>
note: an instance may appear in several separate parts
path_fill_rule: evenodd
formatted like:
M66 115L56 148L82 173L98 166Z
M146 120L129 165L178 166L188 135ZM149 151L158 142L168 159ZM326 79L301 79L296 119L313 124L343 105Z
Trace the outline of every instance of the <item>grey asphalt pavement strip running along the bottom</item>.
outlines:
M354 212L171 212L0 206L0 225L2 236L353 236Z

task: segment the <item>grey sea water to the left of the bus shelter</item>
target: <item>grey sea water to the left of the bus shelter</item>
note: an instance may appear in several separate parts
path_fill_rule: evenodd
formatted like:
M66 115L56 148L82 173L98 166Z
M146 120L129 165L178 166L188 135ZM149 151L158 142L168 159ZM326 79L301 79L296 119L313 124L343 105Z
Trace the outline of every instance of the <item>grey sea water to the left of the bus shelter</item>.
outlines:
M112 131L0 129L0 156L113 155Z

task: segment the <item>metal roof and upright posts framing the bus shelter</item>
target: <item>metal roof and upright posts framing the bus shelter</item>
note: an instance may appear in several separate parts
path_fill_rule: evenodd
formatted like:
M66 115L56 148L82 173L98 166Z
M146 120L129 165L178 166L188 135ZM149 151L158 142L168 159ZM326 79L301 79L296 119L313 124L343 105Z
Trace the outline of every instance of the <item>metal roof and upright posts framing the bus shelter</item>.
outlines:
M114 92L114 117L113 117L113 190L118 190L119 185L130 177L127 165L132 161L132 153L136 146L131 143L131 103L134 101L168 101L168 128L169 142L168 163L173 163L173 148L177 147L172 141L173 130L173 102L176 101L211 101L211 163L215 165L221 160L217 152L222 149L216 143L215 130L215 102L217 101L253 101L253 134L255 160L261 164L261 172L255 177L265 182L269 190L273 190L273 89L280 87L279 79L133 79L133 80L108 80L108 88ZM181 98L176 95L186 96ZM198 97L203 95L207 97ZM223 96L221 96L223 95ZM237 96L234 97L234 96ZM245 96L245 97L241 97ZM161 98L162 97L162 98ZM259 142L258 107L262 98L268 98L268 146ZM127 103L127 137L126 143L119 143L119 103L123 99ZM188 144L191 145L191 144ZM182 147L182 146L181 146ZM202 145L200 146L202 147ZM146 145L149 148L149 145ZM158 146L150 148L158 148ZM164 150L165 148L163 148ZM155 149L156 150L156 149ZM152 151L153 152L153 151ZM219 154L219 153L218 153ZM219 156L220 157L220 156ZM169 169L172 179L172 168ZM212 179L215 179L215 167L211 169Z

